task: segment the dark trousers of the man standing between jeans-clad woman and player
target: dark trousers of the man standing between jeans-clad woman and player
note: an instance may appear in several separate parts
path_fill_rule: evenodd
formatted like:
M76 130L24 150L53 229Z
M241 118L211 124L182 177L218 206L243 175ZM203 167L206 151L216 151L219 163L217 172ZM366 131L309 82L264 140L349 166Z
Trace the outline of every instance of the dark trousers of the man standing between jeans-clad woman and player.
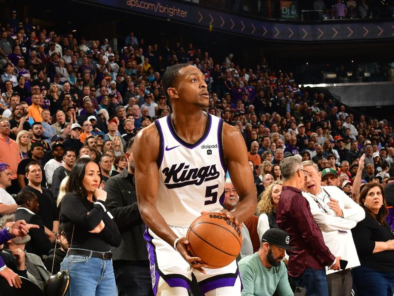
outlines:
M114 271L118 296L153 295L149 263L144 266L115 260Z

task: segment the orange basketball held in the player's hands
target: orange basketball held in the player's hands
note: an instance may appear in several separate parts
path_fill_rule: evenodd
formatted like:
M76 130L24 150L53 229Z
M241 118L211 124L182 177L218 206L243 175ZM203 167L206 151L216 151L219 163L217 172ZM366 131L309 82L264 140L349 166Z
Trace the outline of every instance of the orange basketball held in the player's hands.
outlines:
M201 258L208 268L229 265L242 247L242 234L226 214L207 213L190 225L186 238L193 257Z

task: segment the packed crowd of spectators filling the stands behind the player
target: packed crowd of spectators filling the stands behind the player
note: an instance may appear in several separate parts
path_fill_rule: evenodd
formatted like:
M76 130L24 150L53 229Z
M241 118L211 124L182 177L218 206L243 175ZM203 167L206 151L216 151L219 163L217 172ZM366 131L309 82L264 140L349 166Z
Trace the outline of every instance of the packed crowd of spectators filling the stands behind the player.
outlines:
M47 32L33 27L29 18L19 22L15 11L0 29L0 215L6 215L0 226L21 217L40 225L31 237L10 241L5 248L11 253L12 248L27 251L29 279L41 288L66 255L58 205L76 158L88 155L97 161L103 185L110 185L104 189L111 191L112 198L126 194L113 179L115 175L132 179L131 150L126 144L139 130L171 113L162 76L177 63L201 70L210 92L205 111L237 127L245 140L257 198L264 203L257 212L265 214L259 226L254 219L246 223L255 225L248 227L255 252L266 229L278 226L272 213L281 190L271 184L281 186L280 164L286 157L312 160L323 184L339 187L357 203L362 183L386 186L394 179L390 122L364 115L356 118L327 94L299 86L293 73L273 69L265 58L246 68L232 54L214 61L202 46L146 44L133 32L116 51L106 38ZM135 188L126 191L135 195ZM10 194L17 194L16 199ZM131 244L129 236L135 237L135 246L128 247L144 248L142 221L133 220L133 226L127 222L132 215L139 217L135 196L131 200L123 205L112 200L109 205L115 214L119 208L133 213L128 216L119 210L115 220L119 218L126 244ZM138 227L129 229L135 221ZM52 270L55 240L60 241L60 251ZM128 253L126 249L124 245L121 251L111 249L115 262L130 260L149 267L146 250ZM25 259L15 260L18 270L25 270ZM44 264L49 271L38 272ZM114 263L115 274L120 265Z

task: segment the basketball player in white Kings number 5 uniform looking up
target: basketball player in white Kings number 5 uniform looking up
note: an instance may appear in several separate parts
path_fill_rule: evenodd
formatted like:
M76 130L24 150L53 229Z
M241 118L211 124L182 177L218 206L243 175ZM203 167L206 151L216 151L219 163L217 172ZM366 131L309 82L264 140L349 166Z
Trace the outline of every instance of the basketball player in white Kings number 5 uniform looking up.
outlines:
M185 235L201 212L222 211L239 225L256 211L245 142L239 130L202 111L209 95L199 69L188 64L169 67L163 85L173 113L142 129L133 146L153 291L187 296L193 272L207 296L240 295L236 261L205 268L200 258L190 256ZM221 205L227 170L240 197L230 213Z

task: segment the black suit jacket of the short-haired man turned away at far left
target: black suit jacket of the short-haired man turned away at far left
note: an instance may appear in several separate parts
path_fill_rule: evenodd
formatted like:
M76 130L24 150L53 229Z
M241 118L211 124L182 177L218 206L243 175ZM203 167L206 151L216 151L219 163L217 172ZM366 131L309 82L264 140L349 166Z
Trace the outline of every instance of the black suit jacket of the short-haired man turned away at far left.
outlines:
M29 235L31 236L30 242L26 245L26 251L33 253L42 258L42 255L48 255L52 249L52 244L47 238L44 231L44 223L41 217L31 214L25 209L18 208L15 213L15 221L25 220L26 223L37 224L40 228L31 228Z

